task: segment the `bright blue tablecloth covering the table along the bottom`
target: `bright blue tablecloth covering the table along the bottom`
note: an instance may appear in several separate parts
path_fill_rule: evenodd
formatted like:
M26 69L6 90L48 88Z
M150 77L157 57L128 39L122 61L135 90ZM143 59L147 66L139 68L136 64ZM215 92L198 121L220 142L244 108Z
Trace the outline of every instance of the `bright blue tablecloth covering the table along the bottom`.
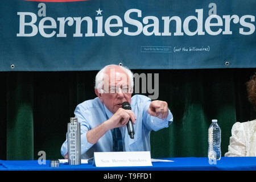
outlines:
M167 159L167 158L166 158ZM208 158L168 158L174 162L152 162L147 167L95 167L92 164L70 166L60 164L60 167L50 167L38 164L38 160L0 160L0 171L211 171L211 170L253 170L256 171L256 157L222 157L217 164L210 164Z

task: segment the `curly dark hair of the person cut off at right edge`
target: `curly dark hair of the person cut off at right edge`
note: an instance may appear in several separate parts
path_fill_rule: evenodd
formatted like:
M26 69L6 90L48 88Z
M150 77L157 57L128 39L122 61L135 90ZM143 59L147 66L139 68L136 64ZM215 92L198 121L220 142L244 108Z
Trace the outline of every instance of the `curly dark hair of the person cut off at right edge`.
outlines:
M251 76L250 80L246 82L248 100L256 110L256 72Z

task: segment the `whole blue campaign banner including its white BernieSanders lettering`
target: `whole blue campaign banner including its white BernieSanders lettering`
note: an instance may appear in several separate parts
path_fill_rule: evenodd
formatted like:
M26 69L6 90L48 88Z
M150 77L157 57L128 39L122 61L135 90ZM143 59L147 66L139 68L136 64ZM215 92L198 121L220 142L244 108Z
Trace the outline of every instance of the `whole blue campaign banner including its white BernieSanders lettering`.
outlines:
M256 68L256 1L1 0L0 71Z

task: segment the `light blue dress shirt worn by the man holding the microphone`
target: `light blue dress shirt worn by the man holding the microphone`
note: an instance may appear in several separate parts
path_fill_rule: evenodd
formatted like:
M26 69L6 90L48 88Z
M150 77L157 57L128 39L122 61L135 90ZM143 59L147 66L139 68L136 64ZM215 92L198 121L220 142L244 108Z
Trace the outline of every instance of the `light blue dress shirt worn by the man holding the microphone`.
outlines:
M172 123L173 117L170 110L166 119L159 119L148 114L147 110L150 103L151 99L146 96L135 95L131 97L131 110L136 115L137 120L134 125L134 139L130 138L126 126L119 127L123 138L124 151L150 151L150 131L158 131ZM111 130L106 132L95 144L89 143L86 137L87 131L101 125L113 115L100 99L96 97L93 100L82 102L77 105L74 113L77 121L81 123L81 158L92 158L93 152L112 151ZM65 156L67 152L68 142L66 137L61 146L61 155Z

